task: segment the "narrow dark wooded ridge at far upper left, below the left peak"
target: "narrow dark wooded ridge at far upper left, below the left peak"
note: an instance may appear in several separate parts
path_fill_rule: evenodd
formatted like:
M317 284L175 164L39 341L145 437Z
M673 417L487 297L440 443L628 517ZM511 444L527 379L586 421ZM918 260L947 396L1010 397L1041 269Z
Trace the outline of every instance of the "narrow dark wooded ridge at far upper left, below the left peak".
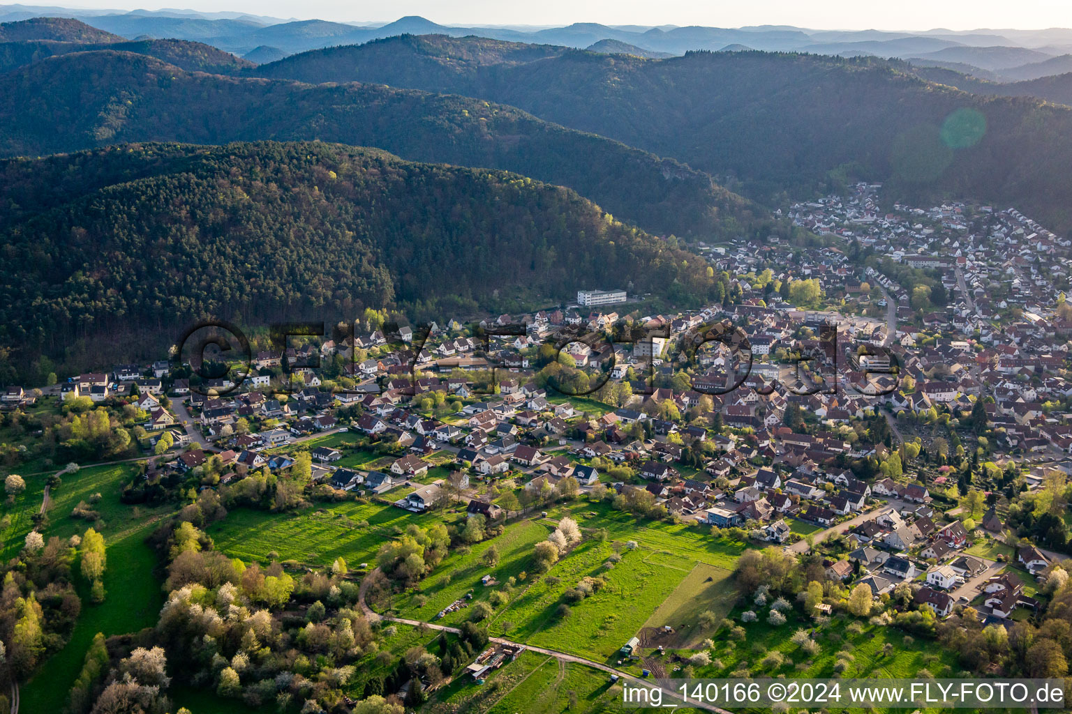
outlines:
M212 74L238 74L254 66L253 62L235 57L230 52L210 45L187 40L134 40L131 42L108 42L78 44L51 40L28 40L0 43L0 73L17 66L39 62L56 55L83 52L94 49L148 55L169 62L188 72L209 72Z

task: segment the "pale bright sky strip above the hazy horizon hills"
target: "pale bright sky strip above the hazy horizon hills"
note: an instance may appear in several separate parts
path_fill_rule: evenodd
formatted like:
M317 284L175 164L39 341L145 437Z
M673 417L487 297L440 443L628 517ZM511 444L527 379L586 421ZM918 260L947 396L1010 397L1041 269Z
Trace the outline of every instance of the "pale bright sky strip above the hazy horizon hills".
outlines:
M118 10L181 6L339 21L421 15L443 25L793 25L846 30L1072 27L1072 0L75 0L70 5L57 4Z

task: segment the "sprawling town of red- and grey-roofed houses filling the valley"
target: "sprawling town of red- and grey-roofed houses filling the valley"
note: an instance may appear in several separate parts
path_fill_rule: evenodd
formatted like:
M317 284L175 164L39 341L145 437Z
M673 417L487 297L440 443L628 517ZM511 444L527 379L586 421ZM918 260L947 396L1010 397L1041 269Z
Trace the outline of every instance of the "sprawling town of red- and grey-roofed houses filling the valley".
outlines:
M149 455L126 487L143 499L307 467L273 508L355 500L491 528L552 523L581 498L810 559L875 603L1011 628L1068 550L1063 520L1034 508L1061 512L1072 473L1069 243L1015 211L884 213L876 191L791 209L825 242L704 246L734 278L702 309L582 289L470 323L367 310L331 338L255 337L245 374L173 355L9 389L3 413L121 413ZM477 590L501 584L489 572ZM457 624L473 597L428 619ZM638 672L684 642L656 624L624 633ZM467 672L522 651L491 647Z

